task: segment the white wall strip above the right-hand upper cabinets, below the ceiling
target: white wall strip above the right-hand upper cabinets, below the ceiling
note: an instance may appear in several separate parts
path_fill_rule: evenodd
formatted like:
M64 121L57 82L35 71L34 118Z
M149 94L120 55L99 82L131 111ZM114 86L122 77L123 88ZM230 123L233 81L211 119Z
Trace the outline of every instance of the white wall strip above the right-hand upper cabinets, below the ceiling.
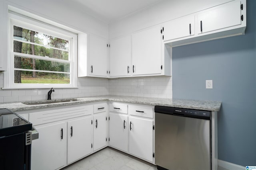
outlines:
M192 14L232 0L163 0L109 24L109 38L127 35L134 31L158 25L181 16Z

